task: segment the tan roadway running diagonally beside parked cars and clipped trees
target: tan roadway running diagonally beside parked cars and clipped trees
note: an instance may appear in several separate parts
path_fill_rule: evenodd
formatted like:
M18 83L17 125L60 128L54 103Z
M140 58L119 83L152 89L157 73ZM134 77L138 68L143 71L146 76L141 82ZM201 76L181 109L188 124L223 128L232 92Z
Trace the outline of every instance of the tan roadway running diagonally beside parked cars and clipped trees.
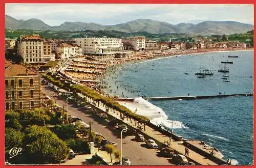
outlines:
M42 86L42 91L48 96L54 94L53 90L46 86ZM66 100L60 98L54 99L60 107L64 105L66 109ZM117 143L117 150L121 150L121 139L118 137L120 135L117 134L113 128L109 128L105 121L90 112L84 113L84 109L75 104L69 103L68 110L70 115L76 116L86 123L92 121L92 129L95 130L95 132L101 133L109 141ZM169 162L168 158L159 157L158 150L147 149L144 147L144 143L134 141L134 136L126 136L123 138L122 142L123 156L127 156L133 165L174 165Z

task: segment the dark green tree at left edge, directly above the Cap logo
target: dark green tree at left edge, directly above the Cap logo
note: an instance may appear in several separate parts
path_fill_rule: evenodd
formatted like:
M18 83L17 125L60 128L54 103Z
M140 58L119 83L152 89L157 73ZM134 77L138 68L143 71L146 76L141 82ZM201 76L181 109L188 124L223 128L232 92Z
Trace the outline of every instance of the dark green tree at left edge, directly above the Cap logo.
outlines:
M22 147L25 134L13 128L5 128L5 148Z

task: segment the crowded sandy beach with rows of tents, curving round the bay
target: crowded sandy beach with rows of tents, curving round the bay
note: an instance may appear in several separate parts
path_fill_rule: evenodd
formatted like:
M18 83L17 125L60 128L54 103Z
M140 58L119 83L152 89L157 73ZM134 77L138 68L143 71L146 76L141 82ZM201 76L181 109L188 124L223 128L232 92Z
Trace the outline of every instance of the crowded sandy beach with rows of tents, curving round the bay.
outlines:
M66 64L64 72L77 79L77 80L90 80L90 81L81 81L83 85L90 87L91 89L96 90L97 92L104 94L103 89L108 90L111 95L117 97L118 87L127 90L128 92L133 93L134 91L129 91L129 86L121 86L121 83L115 81L116 90L112 91L108 88L108 83L98 82L102 81L106 71L109 71L111 78L114 79L118 74L115 73L116 68L123 68L123 65L126 62L136 62L136 61L145 61L163 57L175 57L177 55L183 54L193 54L193 53L203 53L203 52L215 52L215 51L229 51L229 50L241 50L238 48L218 48L218 49L185 49L185 50L146 50L146 51L133 51L130 54L123 55L123 57L115 58L112 56L98 57L93 55L83 55L83 57L74 58L72 61ZM122 93L122 97L125 95ZM138 95L146 97L146 95Z

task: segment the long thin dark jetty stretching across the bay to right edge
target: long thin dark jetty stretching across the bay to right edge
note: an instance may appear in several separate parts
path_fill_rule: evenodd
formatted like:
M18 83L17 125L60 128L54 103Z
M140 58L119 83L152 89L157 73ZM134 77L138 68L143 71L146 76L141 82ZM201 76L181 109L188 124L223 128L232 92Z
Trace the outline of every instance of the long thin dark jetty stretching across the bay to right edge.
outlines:
M223 98L234 96L253 96L252 93L245 94L224 94L224 95L209 95L209 96L175 96L175 97L143 97L145 100L191 100L191 99L207 99L207 98ZM119 101L134 101L135 98L116 98Z

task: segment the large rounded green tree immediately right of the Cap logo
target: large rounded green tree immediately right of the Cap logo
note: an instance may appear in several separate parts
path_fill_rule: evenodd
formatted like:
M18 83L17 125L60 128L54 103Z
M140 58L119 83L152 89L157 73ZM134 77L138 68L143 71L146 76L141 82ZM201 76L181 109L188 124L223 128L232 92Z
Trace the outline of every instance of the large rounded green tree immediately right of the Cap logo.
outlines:
M69 148L45 127L29 126L25 130L24 145L27 158L33 163L59 162L68 157Z

